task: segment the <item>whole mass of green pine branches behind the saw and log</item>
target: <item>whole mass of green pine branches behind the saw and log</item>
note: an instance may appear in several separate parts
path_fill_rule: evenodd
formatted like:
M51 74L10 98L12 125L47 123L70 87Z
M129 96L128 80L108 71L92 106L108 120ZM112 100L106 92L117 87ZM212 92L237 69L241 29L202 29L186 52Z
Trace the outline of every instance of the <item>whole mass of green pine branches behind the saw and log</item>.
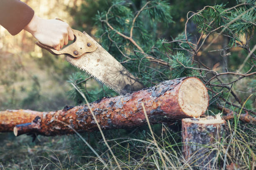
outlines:
M99 1L98 3L102 2ZM241 42L241 35L248 37L253 34L256 18L255 4L251 0L243 1L242 3L245 4L236 7L233 7L236 5L233 2L223 1L219 3L221 4L216 5L217 3L215 3L213 6L201 7L202 10L197 9L197 13L189 12L187 17L193 16L192 20L189 20L187 24L190 24L190 27L192 22L196 24L198 32L207 35L206 38L208 38L208 35L218 35L218 33L228 37L230 43L223 49L230 50L232 47L238 46L236 42ZM180 22L177 19L180 14L177 13L175 8L176 4L171 4L166 0L153 0L150 2L144 0L131 0L129 2L115 0L106 4L108 8L98 11L95 16L96 36L99 38L102 47L108 50L133 75L138 77L144 85L152 86L163 80L183 76L200 78L212 76L211 73L205 70L193 69L205 67L200 65L200 62L202 62L199 60L200 57L193 55L195 49L192 49L192 47L195 47L195 42L198 43L197 47L201 43L205 43L203 39L201 39L200 43L196 41L199 38L197 37L197 32L188 31L191 28L188 28L187 25L187 32L176 32L174 37L165 36L164 32L169 32L170 30L168 29L176 27L175 24ZM182 3L177 3L177 5L182 5ZM81 11L84 11L83 8L86 9L85 6L82 6ZM183 17L185 18L185 16ZM174 19L176 20L174 21ZM173 32L172 35L174 35ZM248 49L245 46L243 48ZM246 55L246 53L243 54ZM206 54L204 55L207 56ZM230 59L228 67L231 70L237 69L238 60L243 61L236 53L233 53ZM219 61L206 60L205 65L209 67L214 62ZM255 61L252 60L252 62ZM246 64L243 70L248 70L250 65L249 63ZM80 80L80 78L82 80L86 77L81 75L77 79ZM216 104L220 98L226 97L230 87L223 90L217 87L220 84L218 80L211 83L214 85L211 89L215 93L209 93L210 103ZM90 101L92 99L97 100L97 97L101 98L104 95L115 95L104 86L94 90L84 90L83 87L81 86L81 89L86 93ZM217 93L218 95L216 95ZM75 90L70 92L70 95L74 100L82 101ZM231 100L229 101L231 102Z

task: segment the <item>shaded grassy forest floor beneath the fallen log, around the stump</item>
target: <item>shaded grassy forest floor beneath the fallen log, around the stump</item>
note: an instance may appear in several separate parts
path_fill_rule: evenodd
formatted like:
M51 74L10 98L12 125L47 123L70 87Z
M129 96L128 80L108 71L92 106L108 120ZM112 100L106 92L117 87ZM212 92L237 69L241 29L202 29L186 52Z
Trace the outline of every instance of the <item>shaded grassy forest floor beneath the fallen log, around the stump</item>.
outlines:
M218 162L218 166L213 169L222 169L226 155L227 165L235 165L237 169L253 170L256 155L256 127L241 123L235 132L235 126L231 121L228 125L230 125L228 138L211 145L212 151L217 151L215 159ZM158 147L168 156L168 159L164 159L166 166L171 169L195 169L195 165L187 163L182 156L179 127L179 123L152 126ZM160 170L164 168L148 126L103 132L121 169ZM100 158L105 160L108 169L118 169L113 155L99 132L82 133L80 137L77 135L38 136L34 142L32 139L29 135L15 137L13 133L0 134L0 170L103 169L104 165L84 140Z

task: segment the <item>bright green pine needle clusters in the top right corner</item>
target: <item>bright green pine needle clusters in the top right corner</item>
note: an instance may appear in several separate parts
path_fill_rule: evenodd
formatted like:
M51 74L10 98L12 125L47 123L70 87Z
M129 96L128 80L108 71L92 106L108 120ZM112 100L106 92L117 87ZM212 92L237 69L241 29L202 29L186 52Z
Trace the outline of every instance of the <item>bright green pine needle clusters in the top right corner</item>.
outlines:
M250 2L231 11L225 8L225 5L215 5L198 12L197 15L193 16L193 20L198 24L199 32L208 33L214 28L228 25L230 31L226 32L243 35L245 33L251 34L255 27L256 8Z

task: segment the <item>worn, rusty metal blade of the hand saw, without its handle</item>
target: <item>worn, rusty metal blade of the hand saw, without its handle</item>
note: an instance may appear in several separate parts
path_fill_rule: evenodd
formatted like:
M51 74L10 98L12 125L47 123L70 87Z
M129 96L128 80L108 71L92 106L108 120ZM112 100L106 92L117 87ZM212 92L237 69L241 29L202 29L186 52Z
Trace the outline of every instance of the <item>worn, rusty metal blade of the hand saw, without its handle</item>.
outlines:
M144 88L144 85L126 70L120 62L115 60L112 55L86 32L83 33L97 45L97 50L84 53L77 58L67 56L68 62L92 75L96 80L119 94L126 94Z

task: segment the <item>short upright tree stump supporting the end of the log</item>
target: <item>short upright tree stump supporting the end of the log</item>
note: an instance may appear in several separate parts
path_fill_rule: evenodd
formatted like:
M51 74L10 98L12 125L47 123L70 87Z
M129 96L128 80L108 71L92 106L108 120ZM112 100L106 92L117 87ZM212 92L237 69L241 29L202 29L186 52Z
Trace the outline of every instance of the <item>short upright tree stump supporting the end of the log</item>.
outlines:
M182 119L183 155L189 165L200 170L218 169L214 143L225 138L225 120L221 118Z

